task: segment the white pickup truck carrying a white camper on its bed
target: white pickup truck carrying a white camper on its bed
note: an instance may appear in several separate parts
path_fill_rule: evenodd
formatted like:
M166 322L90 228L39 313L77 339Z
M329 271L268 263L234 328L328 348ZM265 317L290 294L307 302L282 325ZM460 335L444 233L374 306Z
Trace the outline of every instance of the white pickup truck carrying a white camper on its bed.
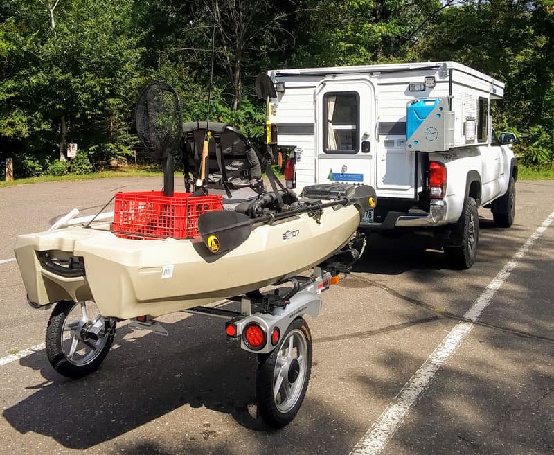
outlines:
M269 121L288 152L289 188L341 181L373 186L362 231L431 234L453 267L473 265L477 209L515 215L515 136L492 130L504 84L455 62L269 71Z

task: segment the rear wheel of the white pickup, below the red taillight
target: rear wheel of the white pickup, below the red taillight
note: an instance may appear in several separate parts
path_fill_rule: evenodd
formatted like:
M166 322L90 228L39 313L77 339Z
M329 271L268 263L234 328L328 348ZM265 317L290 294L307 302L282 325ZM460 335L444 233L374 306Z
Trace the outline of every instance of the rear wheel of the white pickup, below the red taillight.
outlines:
M454 269L469 269L474 265L479 243L479 213L473 197L468 197L455 229L460 246L443 247L447 261Z

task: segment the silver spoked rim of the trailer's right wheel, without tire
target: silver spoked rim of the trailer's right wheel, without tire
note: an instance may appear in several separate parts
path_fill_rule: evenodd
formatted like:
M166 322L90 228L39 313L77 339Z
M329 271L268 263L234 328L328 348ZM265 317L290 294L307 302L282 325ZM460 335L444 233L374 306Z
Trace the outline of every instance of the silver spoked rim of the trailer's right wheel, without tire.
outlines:
M273 375L273 398L277 409L289 412L300 398L307 372L307 341L305 334L294 329L279 346Z

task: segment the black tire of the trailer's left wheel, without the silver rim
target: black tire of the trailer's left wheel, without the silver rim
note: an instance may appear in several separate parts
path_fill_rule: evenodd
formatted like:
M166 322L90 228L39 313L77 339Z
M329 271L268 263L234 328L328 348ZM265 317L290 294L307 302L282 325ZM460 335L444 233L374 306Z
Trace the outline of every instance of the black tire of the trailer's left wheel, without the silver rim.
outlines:
M60 301L55 305L46 328L46 355L48 355L48 361L57 373L65 377L78 379L96 371L105 359L111 344L114 342L116 321L106 319L105 337L107 339L100 348L100 352L91 359L91 362L82 365L73 364L62 349L62 332L66 318L75 305L78 305L78 303L73 301Z

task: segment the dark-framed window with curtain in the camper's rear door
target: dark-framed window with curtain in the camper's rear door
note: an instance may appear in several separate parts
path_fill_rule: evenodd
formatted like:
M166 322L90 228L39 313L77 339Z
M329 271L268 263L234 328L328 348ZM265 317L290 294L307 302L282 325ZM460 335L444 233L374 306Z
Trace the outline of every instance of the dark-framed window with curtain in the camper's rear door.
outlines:
M356 154L359 148L359 95L352 91L323 96L323 150Z

